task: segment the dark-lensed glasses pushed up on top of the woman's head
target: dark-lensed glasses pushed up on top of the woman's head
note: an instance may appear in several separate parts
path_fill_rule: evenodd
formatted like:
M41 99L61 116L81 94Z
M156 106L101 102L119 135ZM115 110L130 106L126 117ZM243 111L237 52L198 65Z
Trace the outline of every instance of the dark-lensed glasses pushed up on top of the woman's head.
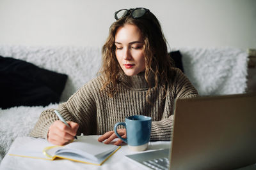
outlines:
M131 8L130 10L127 9L122 9L119 11L115 12L115 19L119 20L122 17L126 17L128 15L131 15L132 18L136 19L136 18L140 18L143 15L145 15L145 13L147 13L149 10L146 8Z

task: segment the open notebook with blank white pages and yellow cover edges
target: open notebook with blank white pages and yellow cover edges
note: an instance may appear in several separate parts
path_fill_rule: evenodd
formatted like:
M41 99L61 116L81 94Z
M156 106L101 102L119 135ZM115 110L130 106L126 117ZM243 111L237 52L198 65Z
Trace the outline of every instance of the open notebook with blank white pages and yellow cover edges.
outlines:
M65 146L52 145L45 139L34 139L13 150L10 155L35 159L68 159L84 164L102 165L120 146L106 145L97 141L98 136L77 136Z

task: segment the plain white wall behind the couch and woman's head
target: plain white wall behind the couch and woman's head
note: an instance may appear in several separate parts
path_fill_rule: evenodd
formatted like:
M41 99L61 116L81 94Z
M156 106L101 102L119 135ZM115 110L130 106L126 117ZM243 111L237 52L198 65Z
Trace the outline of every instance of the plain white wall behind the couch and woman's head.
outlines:
M121 8L149 8L170 46L256 48L255 0L0 0L1 45L102 46Z

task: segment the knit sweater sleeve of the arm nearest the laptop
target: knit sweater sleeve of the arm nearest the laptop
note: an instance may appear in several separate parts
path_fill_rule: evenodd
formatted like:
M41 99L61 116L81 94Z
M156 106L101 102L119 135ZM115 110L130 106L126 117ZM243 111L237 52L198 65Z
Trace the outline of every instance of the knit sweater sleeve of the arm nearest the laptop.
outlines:
M170 86L170 96L173 96L171 100L198 96L198 92L188 78L179 69L177 69L176 72L177 74L173 85ZM174 101L172 101L172 103L174 103ZM173 110L173 104L170 110ZM169 141L173 131L173 122L173 115L170 115L168 118L163 118L160 121L152 122L150 141Z

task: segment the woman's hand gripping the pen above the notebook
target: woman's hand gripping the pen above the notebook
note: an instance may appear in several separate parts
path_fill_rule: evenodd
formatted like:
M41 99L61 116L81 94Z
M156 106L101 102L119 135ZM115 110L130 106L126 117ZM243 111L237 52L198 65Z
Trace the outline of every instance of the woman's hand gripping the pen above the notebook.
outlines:
M70 127L60 120L56 120L49 127L47 140L54 145L65 145L76 136L79 125L75 122L67 122Z

